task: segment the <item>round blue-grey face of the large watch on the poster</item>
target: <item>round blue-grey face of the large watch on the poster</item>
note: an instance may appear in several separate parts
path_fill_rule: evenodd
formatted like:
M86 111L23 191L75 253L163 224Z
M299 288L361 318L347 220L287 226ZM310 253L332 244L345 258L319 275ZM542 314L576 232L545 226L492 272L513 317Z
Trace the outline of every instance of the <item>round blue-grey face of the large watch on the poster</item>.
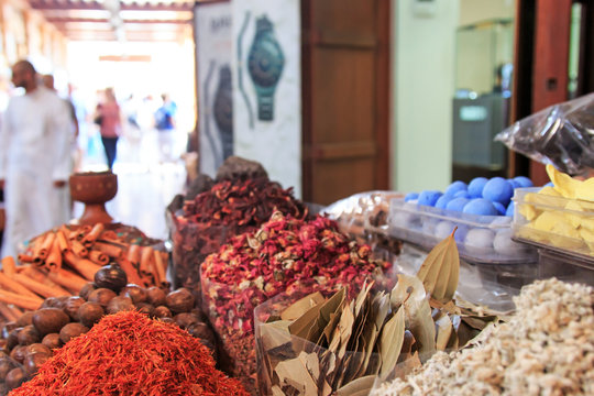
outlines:
M284 64L283 51L272 33L256 34L248 57L248 70L254 84L261 87L275 86Z

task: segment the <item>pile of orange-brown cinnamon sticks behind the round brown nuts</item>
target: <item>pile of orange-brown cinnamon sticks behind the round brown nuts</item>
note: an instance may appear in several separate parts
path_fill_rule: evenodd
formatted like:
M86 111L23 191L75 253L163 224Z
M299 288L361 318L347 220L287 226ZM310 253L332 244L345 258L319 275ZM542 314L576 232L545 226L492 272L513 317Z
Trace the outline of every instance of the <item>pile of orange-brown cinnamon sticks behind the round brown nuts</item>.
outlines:
M77 295L101 266L117 263L128 282L142 287L167 285L168 253L130 244L105 224L69 229L63 226L33 239L28 250L2 258L0 315L19 318L44 298Z

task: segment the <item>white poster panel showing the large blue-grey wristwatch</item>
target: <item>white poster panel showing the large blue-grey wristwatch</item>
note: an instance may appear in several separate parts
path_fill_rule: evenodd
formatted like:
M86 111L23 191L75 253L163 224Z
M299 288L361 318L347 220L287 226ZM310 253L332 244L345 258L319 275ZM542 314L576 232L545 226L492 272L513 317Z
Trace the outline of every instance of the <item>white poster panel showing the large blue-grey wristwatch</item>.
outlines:
M301 196L299 0L234 1L234 153Z

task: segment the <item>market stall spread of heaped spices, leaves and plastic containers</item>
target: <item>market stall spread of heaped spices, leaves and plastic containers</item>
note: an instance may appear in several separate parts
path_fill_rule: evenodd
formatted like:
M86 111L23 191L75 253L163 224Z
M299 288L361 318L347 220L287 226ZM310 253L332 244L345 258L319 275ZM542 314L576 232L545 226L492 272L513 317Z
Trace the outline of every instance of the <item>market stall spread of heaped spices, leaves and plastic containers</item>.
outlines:
M99 200L2 258L0 391L592 394L594 178L548 172L320 210L230 157L170 252Z

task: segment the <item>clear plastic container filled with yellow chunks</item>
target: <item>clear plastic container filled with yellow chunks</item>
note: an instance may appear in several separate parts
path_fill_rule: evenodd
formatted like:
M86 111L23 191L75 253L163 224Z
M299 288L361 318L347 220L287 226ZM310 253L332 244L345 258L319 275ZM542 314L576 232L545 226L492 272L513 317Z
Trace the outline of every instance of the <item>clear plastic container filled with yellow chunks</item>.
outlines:
M594 260L594 202L518 188L514 196L514 239L578 261Z

